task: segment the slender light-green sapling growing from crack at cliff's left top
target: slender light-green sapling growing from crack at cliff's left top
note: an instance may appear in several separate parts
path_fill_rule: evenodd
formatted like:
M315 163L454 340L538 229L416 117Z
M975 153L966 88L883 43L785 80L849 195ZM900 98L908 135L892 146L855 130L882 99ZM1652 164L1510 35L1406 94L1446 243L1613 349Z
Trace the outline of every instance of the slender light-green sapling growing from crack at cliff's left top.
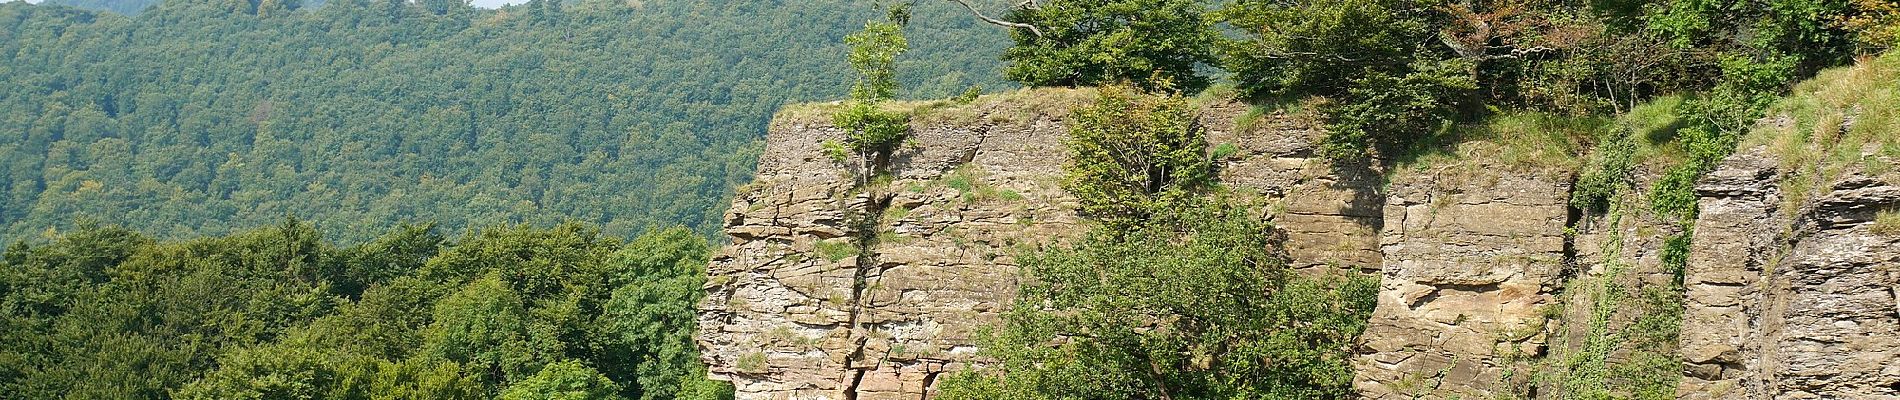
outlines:
M851 100L844 112L832 116L832 123L846 131L844 146L828 146L832 157L838 152L857 155L857 176L868 180L872 173L889 161L910 133L910 114L884 110L884 102L897 95L897 57L910 49L904 40L904 25L910 23L906 4L891 6L885 21L864 23L864 30L846 36L851 45L847 61L859 72L851 85Z

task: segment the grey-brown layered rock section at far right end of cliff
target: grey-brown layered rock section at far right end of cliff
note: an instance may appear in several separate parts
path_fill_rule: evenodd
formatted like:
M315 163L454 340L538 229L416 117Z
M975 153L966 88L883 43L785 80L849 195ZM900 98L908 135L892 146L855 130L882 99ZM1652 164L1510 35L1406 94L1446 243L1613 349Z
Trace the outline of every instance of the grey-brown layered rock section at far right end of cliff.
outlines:
M1849 171L1788 201L1778 163L1744 150L1697 184L1678 394L1900 398L1900 237L1873 231L1900 182Z

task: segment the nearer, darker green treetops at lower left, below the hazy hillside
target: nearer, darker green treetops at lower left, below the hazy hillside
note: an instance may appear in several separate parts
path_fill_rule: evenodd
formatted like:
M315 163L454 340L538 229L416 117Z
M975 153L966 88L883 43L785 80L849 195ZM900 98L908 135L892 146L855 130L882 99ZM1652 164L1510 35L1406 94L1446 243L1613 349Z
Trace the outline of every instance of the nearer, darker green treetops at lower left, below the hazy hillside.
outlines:
M625 246L574 224L454 243L401 227L336 248L296 220L180 243L86 226L0 256L0 389L25 398L732 398L705 379L692 343L707 252L684 227ZM376 265L388 277L361 275Z

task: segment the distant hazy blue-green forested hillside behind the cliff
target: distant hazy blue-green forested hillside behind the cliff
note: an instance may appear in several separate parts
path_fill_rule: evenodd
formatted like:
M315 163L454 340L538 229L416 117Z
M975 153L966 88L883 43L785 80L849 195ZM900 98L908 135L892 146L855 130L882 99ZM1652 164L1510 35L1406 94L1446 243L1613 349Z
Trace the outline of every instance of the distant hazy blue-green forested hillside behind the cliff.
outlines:
M158 237L298 216L340 241L718 218L787 100L847 89L870 2L0 4L0 239L93 218ZM1007 34L920 4L908 97L1003 87Z

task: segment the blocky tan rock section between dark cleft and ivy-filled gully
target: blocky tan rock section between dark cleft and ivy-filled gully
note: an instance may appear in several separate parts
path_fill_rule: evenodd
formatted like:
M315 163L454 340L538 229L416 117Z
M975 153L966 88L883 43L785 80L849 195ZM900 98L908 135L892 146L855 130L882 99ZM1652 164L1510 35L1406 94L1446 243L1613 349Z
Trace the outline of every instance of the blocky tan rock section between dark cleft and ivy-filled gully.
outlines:
M1385 201L1379 305L1355 387L1366 398L1490 398L1543 353L1566 262L1568 176L1417 173Z

